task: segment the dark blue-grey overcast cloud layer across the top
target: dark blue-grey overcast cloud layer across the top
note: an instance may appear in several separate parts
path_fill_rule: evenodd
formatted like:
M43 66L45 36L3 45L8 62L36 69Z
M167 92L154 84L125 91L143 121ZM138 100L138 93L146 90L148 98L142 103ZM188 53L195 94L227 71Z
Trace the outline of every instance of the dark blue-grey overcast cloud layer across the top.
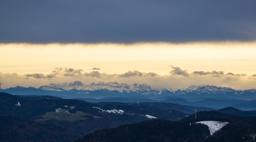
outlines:
M0 42L256 40L255 0L2 0Z

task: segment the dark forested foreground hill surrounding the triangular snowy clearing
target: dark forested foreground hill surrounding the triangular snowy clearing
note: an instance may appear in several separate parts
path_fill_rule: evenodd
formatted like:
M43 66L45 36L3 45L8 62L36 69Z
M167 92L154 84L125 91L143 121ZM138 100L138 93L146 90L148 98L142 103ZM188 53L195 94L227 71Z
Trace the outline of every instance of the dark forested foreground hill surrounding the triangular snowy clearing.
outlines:
M206 125L199 121L228 122L219 131L210 135ZM223 114L218 111L201 111L180 121L150 120L141 123L119 126L114 129L95 131L76 142L85 141L211 141L233 142L254 141L256 117Z

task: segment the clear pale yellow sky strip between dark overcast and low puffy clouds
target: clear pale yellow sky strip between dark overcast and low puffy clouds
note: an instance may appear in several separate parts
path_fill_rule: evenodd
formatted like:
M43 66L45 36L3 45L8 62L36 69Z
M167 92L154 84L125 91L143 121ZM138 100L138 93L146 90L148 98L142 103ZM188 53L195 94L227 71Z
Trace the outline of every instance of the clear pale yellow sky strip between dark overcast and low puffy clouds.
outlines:
M1 51L4 53L1 55L2 65L0 67L1 71L5 73L47 73L55 67L83 68L84 70L88 68L89 71L94 66L101 66L101 71L107 73L140 70L166 75L170 69L168 66L174 65L186 68L188 71L194 71L195 69L204 71L226 70L235 73L255 74L253 71L256 70L256 67L248 70L250 65L255 66L255 62L253 63L253 61L256 61L254 56L254 53L256 53L255 45L256 42L193 42L179 44L166 42L135 44L11 43L0 44ZM196 65L191 63L192 61L203 65ZM233 61L246 68L246 71L235 69ZM141 67L140 64L133 64L134 62L146 65ZM209 67L209 62L213 66L212 68ZM122 65L123 63L125 63L125 66ZM113 66L110 64L113 64ZM118 69L116 65L121 66L121 68ZM161 70L157 71L154 69L155 67L150 67L150 65L161 68ZM35 67L38 69L35 69Z

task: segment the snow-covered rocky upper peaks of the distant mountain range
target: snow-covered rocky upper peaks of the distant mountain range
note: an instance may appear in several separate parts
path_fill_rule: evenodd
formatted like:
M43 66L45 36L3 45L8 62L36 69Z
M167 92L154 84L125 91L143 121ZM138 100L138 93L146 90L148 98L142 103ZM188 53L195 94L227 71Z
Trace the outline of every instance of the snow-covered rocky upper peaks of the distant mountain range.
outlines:
M65 92L72 89L80 90L82 93L90 93L90 91L100 90L100 89L108 89L110 91L118 91L118 92L140 92L144 93L143 95L147 94L162 94L165 91L171 91L175 93L177 90L180 90L180 93L227 93L227 92L235 92L236 90L229 88L229 87L221 87L221 86L214 86L214 85L190 85L190 86L172 86L173 88L168 89L152 89L147 84L137 84L134 83L132 85L128 85L125 83L118 83L118 82L98 82L98 83L91 83L88 85L85 85L81 83L80 81L74 81L71 83L51 83L49 85L40 86L39 88L44 91L58 91L58 92ZM248 90L248 92L256 92L256 89Z

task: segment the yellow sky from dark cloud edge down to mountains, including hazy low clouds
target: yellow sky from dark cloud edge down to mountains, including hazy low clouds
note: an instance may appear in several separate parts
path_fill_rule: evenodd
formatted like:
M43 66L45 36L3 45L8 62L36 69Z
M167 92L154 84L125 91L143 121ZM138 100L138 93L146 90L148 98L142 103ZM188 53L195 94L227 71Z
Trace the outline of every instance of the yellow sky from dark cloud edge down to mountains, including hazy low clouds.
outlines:
M1 82L6 82L4 88L21 85L21 82L23 86L38 87L80 80L83 83L145 83L155 88L209 84L249 89L256 83L253 76L256 74L255 47L256 41L1 43L0 79ZM52 71L56 67L70 68L79 73L72 72L73 74L65 76L67 72L62 70L53 75ZM177 69L174 67L179 67L181 74L171 72ZM92 68L100 68L96 72L98 76ZM194 71L203 71L204 74L196 74ZM214 77L212 71L224 73ZM132 76L122 77L124 73ZM36 78L33 74L42 76ZM47 78L47 75L51 78Z

